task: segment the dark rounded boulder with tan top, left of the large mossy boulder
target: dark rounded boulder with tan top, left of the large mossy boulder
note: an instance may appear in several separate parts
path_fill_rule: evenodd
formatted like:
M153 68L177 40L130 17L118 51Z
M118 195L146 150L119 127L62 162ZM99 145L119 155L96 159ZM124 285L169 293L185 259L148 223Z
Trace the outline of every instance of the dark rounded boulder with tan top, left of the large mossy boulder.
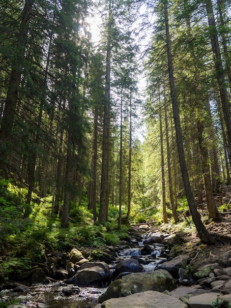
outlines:
M80 287L105 287L111 282L110 268L105 262L88 262L79 268L73 282Z

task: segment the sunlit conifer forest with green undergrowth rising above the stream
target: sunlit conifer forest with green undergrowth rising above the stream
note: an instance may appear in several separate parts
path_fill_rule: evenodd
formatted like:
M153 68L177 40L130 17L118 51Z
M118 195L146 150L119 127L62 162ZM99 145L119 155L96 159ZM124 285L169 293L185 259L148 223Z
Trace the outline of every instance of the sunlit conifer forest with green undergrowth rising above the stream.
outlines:
M213 244L231 1L1 0L0 16L1 248L31 261L148 220Z

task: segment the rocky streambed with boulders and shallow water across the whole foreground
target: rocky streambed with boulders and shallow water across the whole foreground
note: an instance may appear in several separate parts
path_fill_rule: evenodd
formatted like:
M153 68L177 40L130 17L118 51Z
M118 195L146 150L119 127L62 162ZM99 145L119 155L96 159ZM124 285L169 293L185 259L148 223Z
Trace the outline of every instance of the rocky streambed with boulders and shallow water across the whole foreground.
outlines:
M132 233L117 246L51 252L5 281L0 303L37 308L231 307L231 249L202 259L181 234ZM212 248L211 248L212 249ZM211 251L210 251L211 252ZM16 308L16 307L15 307Z

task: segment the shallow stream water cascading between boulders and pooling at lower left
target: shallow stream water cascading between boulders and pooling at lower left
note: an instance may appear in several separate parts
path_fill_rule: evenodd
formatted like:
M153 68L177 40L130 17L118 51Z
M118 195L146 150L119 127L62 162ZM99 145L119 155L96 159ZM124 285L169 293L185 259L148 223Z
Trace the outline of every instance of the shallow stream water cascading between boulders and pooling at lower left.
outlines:
M160 234L152 233L151 236L159 236ZM167 236L167 235L165 235ZM150 237L150 235L149 235ZM146 235L140 240L133 239L126 243L124 248L118 249L116 261L109 264L111 274L115 271L115 265L123 259L134 258L139 260L144 268L144 272L153 271L159 263L165 259L166 247L163 244L143 244ZM98 304L98 298L106 292L107 288L80 287L80 292L73 293L71 296L62 296L61 292L66 284L63 281L57 281L48 285L29 286L28 292L13 292L9 289L3 289L0 292L0 301L8 302L9 300L17 300L27 307L39 308L93 308ZM71 287L72 285L69 285ZM37 305L38 298L45 298L47 304ZM42 302L42 301L41 301Z

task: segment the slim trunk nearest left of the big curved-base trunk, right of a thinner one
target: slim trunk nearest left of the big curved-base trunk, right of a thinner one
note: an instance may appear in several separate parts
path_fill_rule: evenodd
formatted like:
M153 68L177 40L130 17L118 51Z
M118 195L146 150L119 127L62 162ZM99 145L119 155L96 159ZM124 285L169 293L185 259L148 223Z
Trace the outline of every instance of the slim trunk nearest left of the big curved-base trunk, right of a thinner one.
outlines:
M171 168L171 159L170 159L170 145L169 145L169 127L168 127L168 116L167 116L167 106L166 106L166 94L164 90L164 96L165 96L165 130L166 130L166 145L167 145L167 160L168 160L168 174L169 174L169 193L170 193L170 201L172 205L172 212L173 212L173 218L174 221L177 223L179 222L178 215L176 213L175 208L175 200L174 200L174 194L173 194L173 180L172 180L172 168Z

